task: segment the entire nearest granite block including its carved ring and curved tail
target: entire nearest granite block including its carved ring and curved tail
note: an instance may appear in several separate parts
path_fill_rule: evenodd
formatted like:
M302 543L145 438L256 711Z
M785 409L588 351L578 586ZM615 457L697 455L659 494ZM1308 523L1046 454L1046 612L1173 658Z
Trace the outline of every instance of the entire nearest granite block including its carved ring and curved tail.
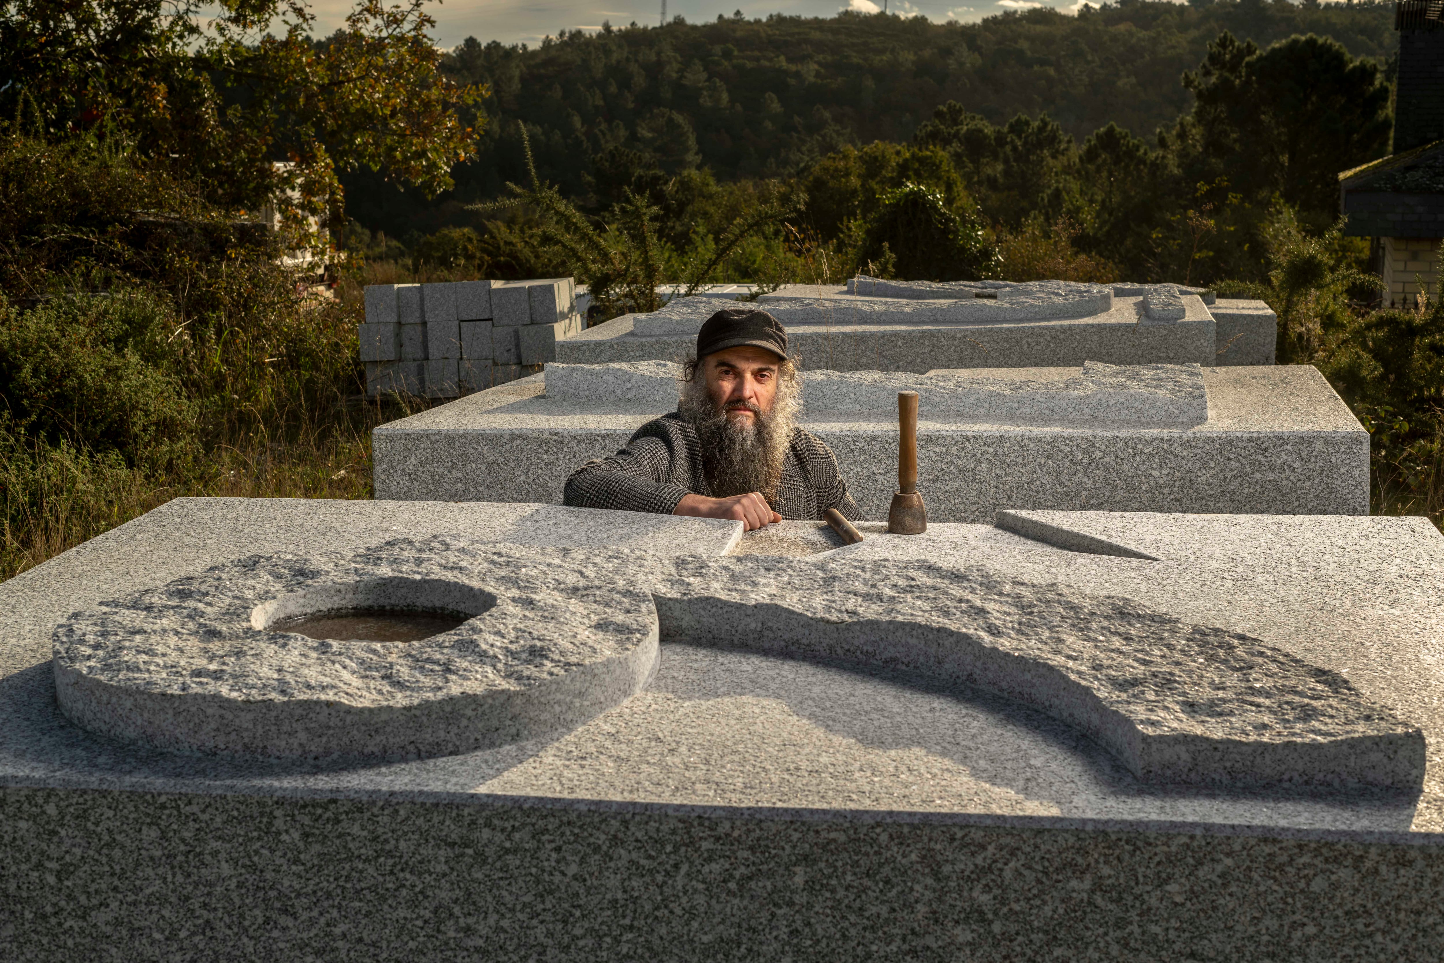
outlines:
M822 523L739 528L537 504L176 500L0 585L7 951L1444 947L1444 781L1424 751L1444 731L1444 539L1425 520L1011 511L921 536L865 523L845 547ZM654 619L645 684L580 686L595 715L458 754L159 748L105 729L107 712L134 725L118 703L81 720L101 732L58 703L59 666L202 712L237 686L261 696L228 709L251 720L287 699L323 720L368 694L443 692L426 673L448 674L442 651L494 670L458 670L462 684L537 694L529 671L585 677L614 651L601 640L645 655L627 645L647 627L614 592ZM412 654L336 641L323 671L297 668L322 658L313 640L266 631L283 609L358 598L482 611ZM503 599L573 631L505 622ZM488 635L494 615L514 644ZM224 657L178 658L179 625L215 628L191 648ZM487 638L490 654L464 645ZM241 641L270 651L245 663Z

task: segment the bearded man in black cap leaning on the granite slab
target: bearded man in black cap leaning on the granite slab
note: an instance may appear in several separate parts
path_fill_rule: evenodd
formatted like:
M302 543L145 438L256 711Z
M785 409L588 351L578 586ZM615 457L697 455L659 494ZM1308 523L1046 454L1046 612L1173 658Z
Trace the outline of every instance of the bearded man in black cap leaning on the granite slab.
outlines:
M664 515L736 518L747 530L861 518L838 459L797 427L801 383L787 332L765 310L719 310L697 332L677 410L647 422L627 448L566 479L563 502Z

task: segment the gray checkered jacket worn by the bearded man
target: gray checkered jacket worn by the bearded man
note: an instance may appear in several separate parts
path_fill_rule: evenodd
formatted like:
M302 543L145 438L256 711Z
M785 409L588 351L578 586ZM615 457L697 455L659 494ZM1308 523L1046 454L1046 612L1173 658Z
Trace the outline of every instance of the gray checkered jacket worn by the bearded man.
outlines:
M563 504L670 515L689 492L712 494L702 471L702 440L696 429L671 413L643 424L615 455L589 461L572 472ZM838 472L838 459L801 429L793 432L773 508L790 521L819 520L829 508L862 520Z

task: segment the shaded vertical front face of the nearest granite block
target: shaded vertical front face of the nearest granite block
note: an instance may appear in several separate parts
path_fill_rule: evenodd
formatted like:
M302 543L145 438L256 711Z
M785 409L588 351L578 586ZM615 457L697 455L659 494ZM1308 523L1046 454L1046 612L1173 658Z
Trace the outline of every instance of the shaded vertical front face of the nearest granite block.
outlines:
M1305 927L1334 960L1444 954L1432 840L113 788L0 809L26 960L1284 960Z

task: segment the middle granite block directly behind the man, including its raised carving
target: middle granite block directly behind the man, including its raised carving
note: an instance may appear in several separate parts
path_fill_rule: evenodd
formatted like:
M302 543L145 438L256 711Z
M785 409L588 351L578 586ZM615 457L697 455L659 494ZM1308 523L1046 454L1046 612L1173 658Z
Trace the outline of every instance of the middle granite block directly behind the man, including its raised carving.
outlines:
M682 367L552 364L373 432L378 498L562 501L566 476L676 410ZM897 393L918 391L934 521L998 510L1366 514L1369 435L1307 365L803 371L801 426L885 518ZM556 390L553 391L553 385Z

